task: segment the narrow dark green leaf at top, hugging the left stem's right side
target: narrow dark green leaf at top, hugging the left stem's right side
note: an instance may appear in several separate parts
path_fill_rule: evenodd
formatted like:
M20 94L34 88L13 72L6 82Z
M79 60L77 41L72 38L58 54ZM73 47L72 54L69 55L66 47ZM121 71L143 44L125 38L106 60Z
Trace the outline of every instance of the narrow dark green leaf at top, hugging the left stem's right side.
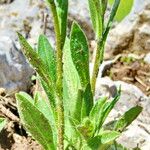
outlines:
M67 30L68 0L56 0L56 4L57 13L59 16L59 26L63 48Z

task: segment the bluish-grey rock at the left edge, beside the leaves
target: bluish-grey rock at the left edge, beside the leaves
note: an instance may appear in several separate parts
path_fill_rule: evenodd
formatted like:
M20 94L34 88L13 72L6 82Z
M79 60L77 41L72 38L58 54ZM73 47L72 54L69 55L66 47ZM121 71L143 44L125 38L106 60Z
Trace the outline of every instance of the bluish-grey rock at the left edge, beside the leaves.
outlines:
M14 41L7 36L0 37L0 87L8 95L27 90L31 85L33 69Z

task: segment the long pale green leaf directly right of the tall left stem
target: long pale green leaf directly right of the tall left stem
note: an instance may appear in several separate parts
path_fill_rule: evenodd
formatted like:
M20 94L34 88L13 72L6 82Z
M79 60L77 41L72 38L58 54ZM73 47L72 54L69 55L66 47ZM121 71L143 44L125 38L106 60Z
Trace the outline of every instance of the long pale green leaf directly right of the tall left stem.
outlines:
M77 142L79 133L76 132L75 123L80 123L82 107L80 96L82 96L82 87L78 72L71 58L69 39L66 40L64 46L63 63L63 100L66 126L65 134L71 141ZM78 107L79 105L80 107Z

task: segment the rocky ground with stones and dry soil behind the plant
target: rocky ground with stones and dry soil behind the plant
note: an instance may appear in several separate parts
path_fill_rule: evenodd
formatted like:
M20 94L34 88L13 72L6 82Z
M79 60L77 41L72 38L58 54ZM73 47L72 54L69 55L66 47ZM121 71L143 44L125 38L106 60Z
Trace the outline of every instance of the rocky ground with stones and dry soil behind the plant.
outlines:
M140 4L140 5L139 5ZM79 22L95 47L87 1L71 0L69 28ZM108 10L109 13L109 10ZM106 16L107 17L107 16ZM69 30L68 28L68 30ZM43 0L0 0L0 116L8 118L0 133L0 149L41 149L23 129L14 94L20 90L32 92L34 74L16 36L21 32L36 47L40 33L45 33L54 45L53 24ZM92 59L92 58L91 58ZM150 2L135 0L131 14L110 32L106 43L106 61L100 67L96 95L113 97L121 85L121 99L109 116L117 118L135 105L143 112L118 139L126 147L150 149Z

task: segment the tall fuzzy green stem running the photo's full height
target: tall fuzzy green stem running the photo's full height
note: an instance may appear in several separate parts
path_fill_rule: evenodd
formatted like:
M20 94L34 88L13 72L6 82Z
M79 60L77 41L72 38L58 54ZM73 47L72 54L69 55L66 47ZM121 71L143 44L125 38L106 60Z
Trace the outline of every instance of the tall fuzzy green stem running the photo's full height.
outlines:
M57 60L57 121L58 121L58 149L64 150L64 107L63 107L63 52L62 52L62 44L61 44L61 33L59 27L58 14L56 10L56 5L54 0L50 3L51 11L53 13L54 19L54 30L56 35L56 60Z

